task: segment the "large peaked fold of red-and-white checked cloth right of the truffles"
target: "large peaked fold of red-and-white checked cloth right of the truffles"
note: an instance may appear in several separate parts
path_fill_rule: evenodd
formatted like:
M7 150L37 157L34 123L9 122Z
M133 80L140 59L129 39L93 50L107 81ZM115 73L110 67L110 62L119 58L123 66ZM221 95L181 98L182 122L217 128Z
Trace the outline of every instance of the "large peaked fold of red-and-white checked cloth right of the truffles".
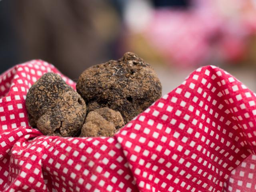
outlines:
M190 74L116 134L139 189L222 191L231 171L255 154L254 101L215 66Z

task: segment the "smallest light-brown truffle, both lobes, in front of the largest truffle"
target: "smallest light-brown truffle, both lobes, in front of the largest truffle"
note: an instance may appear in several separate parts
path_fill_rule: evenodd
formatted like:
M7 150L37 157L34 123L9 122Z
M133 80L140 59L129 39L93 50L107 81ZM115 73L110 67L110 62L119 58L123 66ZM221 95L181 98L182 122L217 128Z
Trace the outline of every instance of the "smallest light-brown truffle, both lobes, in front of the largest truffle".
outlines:
M124 126L124 120L120 112L104 107L89 112L80 136L113 136L122 126Z

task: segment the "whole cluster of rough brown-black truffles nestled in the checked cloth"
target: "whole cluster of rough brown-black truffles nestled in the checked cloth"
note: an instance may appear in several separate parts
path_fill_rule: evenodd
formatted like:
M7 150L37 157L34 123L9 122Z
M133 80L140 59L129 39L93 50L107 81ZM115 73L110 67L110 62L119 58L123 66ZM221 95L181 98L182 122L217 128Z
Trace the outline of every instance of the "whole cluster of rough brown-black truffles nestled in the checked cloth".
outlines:
M26 97L30 125L46 135L113 136L162 95L153 68L131 52L85 70L76 90L44 74Z

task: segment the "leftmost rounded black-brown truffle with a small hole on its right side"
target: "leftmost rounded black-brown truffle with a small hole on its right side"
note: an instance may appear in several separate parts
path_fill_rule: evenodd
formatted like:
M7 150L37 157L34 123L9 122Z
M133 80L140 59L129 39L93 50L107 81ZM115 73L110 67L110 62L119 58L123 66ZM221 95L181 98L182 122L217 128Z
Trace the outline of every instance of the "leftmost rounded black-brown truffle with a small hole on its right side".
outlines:
M86 117L82 97L55 73L46 73L26 96L29 122L45 135L76 136Z

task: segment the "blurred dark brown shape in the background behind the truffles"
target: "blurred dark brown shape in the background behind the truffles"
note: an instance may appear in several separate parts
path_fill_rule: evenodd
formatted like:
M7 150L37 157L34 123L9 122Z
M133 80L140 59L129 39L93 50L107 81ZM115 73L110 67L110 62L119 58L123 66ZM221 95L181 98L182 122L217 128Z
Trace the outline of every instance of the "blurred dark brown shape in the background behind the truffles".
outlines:
M76 80L89 66L112 57L119 18L110 2L38 0L12 6L20 61L46 60Z

